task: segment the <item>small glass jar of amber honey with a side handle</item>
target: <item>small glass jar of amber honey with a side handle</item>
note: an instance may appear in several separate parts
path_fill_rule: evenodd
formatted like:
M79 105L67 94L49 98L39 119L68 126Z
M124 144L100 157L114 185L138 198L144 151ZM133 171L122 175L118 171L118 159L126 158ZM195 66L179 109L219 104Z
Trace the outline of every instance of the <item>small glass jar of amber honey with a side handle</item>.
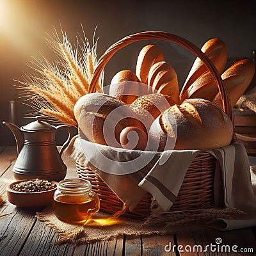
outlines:
M67 223L84 223L100 209L99 196L92 191L89 180L61 180L53 199L54 214Z

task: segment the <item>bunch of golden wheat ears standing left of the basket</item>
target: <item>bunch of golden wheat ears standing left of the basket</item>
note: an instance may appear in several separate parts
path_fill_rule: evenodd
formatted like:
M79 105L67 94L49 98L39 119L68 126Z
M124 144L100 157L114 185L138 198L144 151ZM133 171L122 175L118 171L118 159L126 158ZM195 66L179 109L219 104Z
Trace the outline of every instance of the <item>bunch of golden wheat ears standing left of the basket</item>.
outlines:
M83 27L82 27L83 28ZM84 33L84 30L83 30ZM56 30L53 36L48 35L47 43L56 53L58 61L50 63L44 56L29 65L33 74L24 76L18 81L26 104L36 112L44 114L67 125L77 127L73 109L77 100L88 93L88 85L92 80L97 65L97 52L93 35L92 48L84 33L82 44L77 39L73 49L67 34L61 29L62 40ZM103 72L98 89L104 84Z

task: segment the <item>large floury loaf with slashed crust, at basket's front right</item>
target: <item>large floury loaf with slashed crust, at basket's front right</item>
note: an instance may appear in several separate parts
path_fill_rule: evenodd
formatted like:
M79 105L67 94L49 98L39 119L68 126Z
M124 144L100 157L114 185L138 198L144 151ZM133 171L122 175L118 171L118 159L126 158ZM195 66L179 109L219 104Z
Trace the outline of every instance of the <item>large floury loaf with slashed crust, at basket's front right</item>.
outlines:
M230 144L233 125L209 100L188 99L156 118L148 132L149 150L211 150Z

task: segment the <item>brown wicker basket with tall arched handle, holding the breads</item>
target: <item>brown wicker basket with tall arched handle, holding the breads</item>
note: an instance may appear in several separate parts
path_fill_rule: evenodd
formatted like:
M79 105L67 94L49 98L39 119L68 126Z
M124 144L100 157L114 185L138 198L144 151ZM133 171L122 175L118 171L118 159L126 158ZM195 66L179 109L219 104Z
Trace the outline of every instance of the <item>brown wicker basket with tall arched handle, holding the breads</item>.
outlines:
M193 52L198 58L200 58L205 66L209 68L209 71L214 77L218 89L222 96L223 109L225 113L230 117L233 122L232 109L230 107L229 99L225 88L223 87L222 79L218 74L216 68L211 63L209 58L195 45L188 40L181 38L180 36L173 35L172 33L161 31L148 31L136 33L134 35L126 36L122 40L111 45L109 49L99 59L98 65L93 73L92 82L89 87L89 92L95 91L99 81L100 73L108 63L110 58L119 49L122 49L126 45L132 42L148 39L168 40L182 45L189 51ZM233 140L236 139L234 133ZM188 172L184 178L184 182L180 188L177 200L172 205L171 211L185 211L190 209L205 209L214 206L214 171L216 167L216 159L208 152L200 152L193 162L190 164ZM121 211L123 202L111 191L106 183L100 179L95 172L87 170L82 164L77 163L77 175L82 179L88 179L92 183L92 187L99 194L100 197L100 209L109 213L115 213ZM126 211L124 216L130 218L147 218L150 216L150 207L152 206L152 196L147 194L143 200L137 205L134 211Z

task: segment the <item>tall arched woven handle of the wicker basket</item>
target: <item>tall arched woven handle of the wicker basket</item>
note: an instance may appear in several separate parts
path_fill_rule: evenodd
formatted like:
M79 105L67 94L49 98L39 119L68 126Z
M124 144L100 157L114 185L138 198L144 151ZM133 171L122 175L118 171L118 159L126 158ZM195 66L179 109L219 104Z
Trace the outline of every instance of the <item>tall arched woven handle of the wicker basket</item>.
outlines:
M88 88L88 92L96 92L97 91L97 84L99 83L99 78L102 70L108 63L108 61L111 59L111 57L120 49L125 47L126 45L131 44L132 42L138 42L141 40L149 40L149 39L159 39L159 40L167 40L171 42L175 42L176 44L179 44L183 46L184 48L191 51L193 54L196 55L196 57L200 58L205 64L205 66L209 69L209 72L211 72L212 77L216 81L216 84L218 86L218 90L221 95L221 100L223 104L223 110L224 112L229 116L230 120L232 121L232 124L234 125L233 120L233 113L232 108L230 105L230 101L227 95L227 92L225 90L225 87L223 86L223 81L218 74L218 71L216 70L216 67L212 64L211 60L202 52L196 45L192 44L188 40L174 35L172 33L163 32L163 31L145 31L136 33L133 35L125 36L115 44L111 45L106 52L100 57L97 67L95 68L93 72L92 81L90 83L90 86Z

